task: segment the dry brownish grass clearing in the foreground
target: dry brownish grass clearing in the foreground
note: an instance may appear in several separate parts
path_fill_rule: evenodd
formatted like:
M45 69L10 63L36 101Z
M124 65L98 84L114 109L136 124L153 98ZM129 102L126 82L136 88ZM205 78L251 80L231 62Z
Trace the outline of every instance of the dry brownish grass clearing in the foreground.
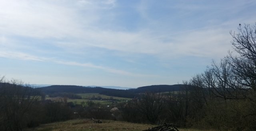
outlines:
M154 126L148 124L136 124L122 121L103 120L103 123L93 123L92 120L70 120L64 122L40 125L34 129L25 131L142 131ZM180 131L202 131L198 129L179 129ZM213 130L207 130L213 131Z

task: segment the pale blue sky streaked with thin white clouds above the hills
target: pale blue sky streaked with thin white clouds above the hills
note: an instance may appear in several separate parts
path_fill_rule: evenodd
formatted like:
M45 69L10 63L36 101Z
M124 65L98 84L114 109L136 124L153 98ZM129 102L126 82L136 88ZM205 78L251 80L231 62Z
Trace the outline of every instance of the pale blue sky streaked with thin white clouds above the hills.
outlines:
M0 0L0 76L30 84L177 84L232 51L256 0Z

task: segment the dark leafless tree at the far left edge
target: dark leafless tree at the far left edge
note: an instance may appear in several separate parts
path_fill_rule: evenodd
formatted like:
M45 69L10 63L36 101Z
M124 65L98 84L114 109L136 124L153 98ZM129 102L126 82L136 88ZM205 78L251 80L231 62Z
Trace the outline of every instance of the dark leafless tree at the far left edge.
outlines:
M38 97L37 91L22 81L0 83L0 130L22 131L29 123L30 109Z

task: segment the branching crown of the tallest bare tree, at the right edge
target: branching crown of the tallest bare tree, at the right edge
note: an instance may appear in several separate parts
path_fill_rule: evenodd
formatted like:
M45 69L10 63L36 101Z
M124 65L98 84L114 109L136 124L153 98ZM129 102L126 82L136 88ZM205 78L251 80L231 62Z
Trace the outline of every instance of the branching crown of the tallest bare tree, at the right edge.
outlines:
M239 26L238 32L230 32L236 54L229 52L226 58L232 66L237 82L256 91L256 24Z

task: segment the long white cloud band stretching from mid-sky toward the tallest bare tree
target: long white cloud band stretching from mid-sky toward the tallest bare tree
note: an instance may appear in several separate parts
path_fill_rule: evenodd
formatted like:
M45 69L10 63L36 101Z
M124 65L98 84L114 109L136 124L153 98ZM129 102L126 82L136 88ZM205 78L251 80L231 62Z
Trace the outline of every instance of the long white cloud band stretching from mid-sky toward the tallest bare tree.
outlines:
M207 28L180 32L180 34L156 34L150 31L136 33L97 31L88 32L77 47L96 46L108 50L149 54L160 58L176 56L223 57L231 48L229 29Z

